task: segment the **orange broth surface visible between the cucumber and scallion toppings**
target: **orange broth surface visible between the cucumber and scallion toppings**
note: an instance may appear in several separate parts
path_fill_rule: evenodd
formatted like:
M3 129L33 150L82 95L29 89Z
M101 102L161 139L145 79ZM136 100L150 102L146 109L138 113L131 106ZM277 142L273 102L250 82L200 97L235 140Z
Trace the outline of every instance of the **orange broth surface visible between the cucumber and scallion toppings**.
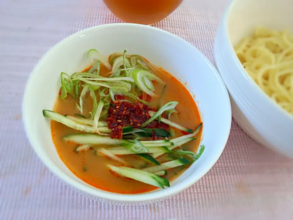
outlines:
M86 70L88 69L85 69L85 71ZM105 74L107 72L109 72L109 70L101 65L100 75L106 76ZM175 77L162 69L155 72L155 75L157 75L167 84L165 88L165 93L162 96L162 103L167 103L169 101L179 102L179 104L176 106L176 110L179 112L178 119L174 116L171 118L171 120L184 127L188 127L194 130L197 125L201 123L201 118L197 109L196 102L194 101L194 98L192 97L190 92L183 86L183 84L175 79ZM154 93L161 94L163 85L155 83L154 86ZM79 114L80 112L75 106L76 101L77 100L75 100L70 95L68 95L64 100L58 97L53 111L62 115ZM153 97L151 99L151 107L157 107L158 102L159 97ZM88 94L85 99L84 107L84 116L86 118L90 118L90 114L88 112L90 112L91 110L92 100ZM74 151L77 146L76 144L66 143L61 140L61 137L64 135L81 132L53 120L51 120L51 132L53 142L61 160L78 178L88 183L89 185L108 192L122 194L145 193L157 189L157 187L155 186L114 174L113 172L110 172L109 168L106 166L107 164L121 166L121 163L113 161L102 155L96 155L94 153L94 150L76 153ZM174 129L174 132L175 136L182 136L183 134L185 134L184 132L182 133L180 130L176 129ZM197 138L196 140L188 142L187 144L183 145L182 148L197 152L201 132L199 132L199 134L197 134L195 137ZM107 149L109 148L109 145L103 147ZM126 161L127 164L125 164L125 166L132 166L140 169L146 165L151 166L150 163L147 163L146 161L135 155L125 155L119 157ZM168 156L168 154L165 154L157 158L157 160L160 163L163 163L170 160L170 157ZM140 167L137 167L137 162L142 165ZM164 178L172 181L180 174L182 174L183 171L186 169L186 166L172 168L168 170L168 175L164 176Z

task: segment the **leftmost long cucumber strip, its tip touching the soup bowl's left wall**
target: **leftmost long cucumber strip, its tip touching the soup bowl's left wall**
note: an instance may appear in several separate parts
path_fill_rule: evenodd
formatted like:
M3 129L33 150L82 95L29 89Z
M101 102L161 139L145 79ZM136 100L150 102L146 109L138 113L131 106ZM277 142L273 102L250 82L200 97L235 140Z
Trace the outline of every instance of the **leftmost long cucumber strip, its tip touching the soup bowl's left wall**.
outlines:
M49 111L49 110L43 110L43 115L45 117L48 117L56 122L62 123L68 127L71 127L75 130L79 130L79 131L83 131L83 132L87 132L87 133L97 133L100 135L104 135L104 136L109 136L110 134L103 134L99 131L99 127L97 129L94 129L92 126L88 126L88 125L83 125L80 123L77 123L63 115L60 115L56 112L53 111ZM103 130L103 129L102 129Z

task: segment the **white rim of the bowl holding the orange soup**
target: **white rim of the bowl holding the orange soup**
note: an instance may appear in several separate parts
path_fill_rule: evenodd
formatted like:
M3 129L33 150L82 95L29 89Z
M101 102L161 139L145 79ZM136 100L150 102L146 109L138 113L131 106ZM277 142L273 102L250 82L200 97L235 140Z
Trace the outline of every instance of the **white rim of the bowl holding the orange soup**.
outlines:
M168 31L159 29L159 28L155 28L152 26L148 26L148 25L141 25L141 24L131 24L131 23L114 23L114 24L103 24L103 25L98 25L98 26L93 26L90 28L86 28L83 29L81 31L78 31L64 39L62 39L60 42L58 42L55 46L53 46L52 48L49 49L49 51L47 51L45 53L45 55L43 55L43 57L38 61L38 63L36 64L36 66L34 67L34 69L31 71L31 74L27 80L27 84L24 90L24 98L23 98L23 102L22 102L22 115L23 117L23 123L24 123L24 129L26 131L27 134L27 138L32 146L32 148L34 149L35 153L38 155L38 157L42 160L42 162L45 164L45 166L53 173L55 174L58 178L60 178L61 180L63 180L64 182L66 182L68 185L73 186L74 188L80 190L81 192L87 193L89 195L98 197L98 198L102 198L105 200L112 200L112 201L119 201L119 202L145 202L145 201L154 201L154 200L160 200L160 199L164 199L167 198L168 196L172 196L175 195L181 191L183 191L184 189L188 188L189 186L193 185L195 182L197 182L200 178L202 178L216 163L216 161L219 159L220 155L222 154L222 151L224 150L229 134L230 134L230 128L231 128L231 123L229 125L229 128L227 128L227 134L226 137L224 138L225 141L223 141L223 143L219 143L219 146L222 148L220 149L218 154L215 154L215 156L212 158L212 160L210 160L208 162L208 165L204 167L204 169L202 169L200 172L198 172L198 174L196 176L194 176L193 178L186 178L184 180L184 182L180 182L170 188L168 188L168 194L164 193L166 190L160 190L160 191L151 191L148 192L148 194L119 194L119 193L110 193L107 191L103 191L103 190L96 190L93 188L90 188L89 186L85 186L84 184L82 184L81 182L78 182L74 179L72 179L71 177L67 176L67 175L62 175L62 173L60 173L58 170L58 166L56 166L54 163L51 162L51 160L49 159L45 159L42 158L42 156L40 156L38 154L37 151L37 146L34 146L32 143L32 134L28 134L28 124L29 122L26 120L25 118L25 108L24 108L24 103L26 102L26 97L27 97L27 91L28 91L28 86L31 84L31 79L32 79L32 75L36 74L35 70L38 68L38 66L41 66L42 63L44 62L44 60L47 59L47 57L49 57L52 53L54 53L54 51L59 48L60 46L62 46L63 44L65 44L68 40L73 39L75 37L79 37L80 35L82 35L84 32L87 31L92 31L92 30L96 30L99 28L115 28L116 26L132 26L132 27L136 27L136 28L146 28L146 29L152 29L155 31L159 31L164 33L165 35L172 35L172 37L174 39L176 39L177 41L181 41L182 43L188 44L189 46L191 46L195 52L198 54L198 56L200 56L203 60L206 61L206 63L212 68L215 76L218 78L219 83L221 84L221 87L223 88L223 92L224 92L224 97L223 99L226 99L227 103L230 104L230 98L229 98L229 94L228 91L226 90L226 86L219 74L219 72L217 71L217 69L214 67L214 65L212 64L212 62L210 60L208 60L207 57L205 57L196 47L194 47L192 44L190 44L189 42L186 42L184 39L178 37L175 34L172 34ZM229 115L229 118L232 118L232 113L231 113L231 106L230 108L228 108L228 110L230 109L229 112L227 112L227 114Z

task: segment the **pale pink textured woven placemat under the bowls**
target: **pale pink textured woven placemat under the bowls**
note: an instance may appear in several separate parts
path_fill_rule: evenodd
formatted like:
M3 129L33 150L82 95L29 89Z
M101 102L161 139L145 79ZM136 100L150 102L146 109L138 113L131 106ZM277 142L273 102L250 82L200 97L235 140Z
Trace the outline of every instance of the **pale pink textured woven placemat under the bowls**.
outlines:
M213 60L215 31L227 3L185 0L154 26ZM100 0L1 0L0 15L0 219L292 219L293 161L256 144L234 121L215 166L170 199L108 204L64 185L25 136L21 101L26 80L56 42L84 28L120 21Z

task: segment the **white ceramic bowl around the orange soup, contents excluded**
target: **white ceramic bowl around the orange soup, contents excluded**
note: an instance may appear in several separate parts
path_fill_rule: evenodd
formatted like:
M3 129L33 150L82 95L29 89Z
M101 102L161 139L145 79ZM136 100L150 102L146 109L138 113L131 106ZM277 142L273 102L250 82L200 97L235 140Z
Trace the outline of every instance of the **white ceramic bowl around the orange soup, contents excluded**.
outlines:
M60 89L60 72L83 70L87 51L96 48L105 56L127 50L163 67L186 87L201 112L206 149L201 158L171 183L153 192L122 195L96 189L77 178L60 160L53 145L49 120L43 109L52 109ZM226 87L212 63L194 46L166 31L139 24L107 24L75 33L54 46L38 62L27 82L23 100L24 126L32 147L43 163L60 179L85 193L120 202L159 200L194 184L218 160L230 132L231 106Z

